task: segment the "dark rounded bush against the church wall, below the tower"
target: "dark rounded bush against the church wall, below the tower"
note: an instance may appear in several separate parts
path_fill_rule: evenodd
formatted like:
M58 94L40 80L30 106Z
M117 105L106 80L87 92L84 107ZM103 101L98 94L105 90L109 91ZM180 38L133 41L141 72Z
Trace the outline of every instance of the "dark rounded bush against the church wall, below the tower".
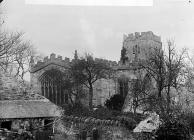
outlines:
M107 99L105 106L111 110L121 111L124 104L124 98L120 94L115 94L110 99Z

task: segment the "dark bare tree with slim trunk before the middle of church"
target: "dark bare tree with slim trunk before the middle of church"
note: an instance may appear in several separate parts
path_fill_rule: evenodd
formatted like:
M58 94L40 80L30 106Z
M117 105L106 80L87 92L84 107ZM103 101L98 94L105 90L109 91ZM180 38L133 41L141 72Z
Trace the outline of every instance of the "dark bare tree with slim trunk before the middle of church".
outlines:
M110 74L109 65L101 60L94 59L92 55L74 61L70 66L70 72L75 85L84 85L89 90L89 108L93 106L93 84L101 78L107 78Z

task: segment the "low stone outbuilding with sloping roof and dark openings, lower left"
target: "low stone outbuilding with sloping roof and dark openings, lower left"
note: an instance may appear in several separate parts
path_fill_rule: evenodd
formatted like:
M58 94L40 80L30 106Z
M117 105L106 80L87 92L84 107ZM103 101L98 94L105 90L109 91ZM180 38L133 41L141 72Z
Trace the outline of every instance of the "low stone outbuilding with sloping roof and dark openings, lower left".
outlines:
M44 128L60 114L59 108L47 99L0 101L0 126L15 132Z

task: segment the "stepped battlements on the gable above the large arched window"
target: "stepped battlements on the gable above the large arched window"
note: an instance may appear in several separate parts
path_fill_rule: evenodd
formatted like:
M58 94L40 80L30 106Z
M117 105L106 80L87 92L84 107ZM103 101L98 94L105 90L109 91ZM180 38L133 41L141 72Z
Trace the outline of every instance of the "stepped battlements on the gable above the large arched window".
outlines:
M67 68L70 64L70 59L67 57L65 57L65 59L62 59L62 56L58 55L56 57L56 54L52 53L50 54L50 57L44 57L43 61L38 61L36 64L31 64L30 72L35 73L36 71L39 71L50 64Z

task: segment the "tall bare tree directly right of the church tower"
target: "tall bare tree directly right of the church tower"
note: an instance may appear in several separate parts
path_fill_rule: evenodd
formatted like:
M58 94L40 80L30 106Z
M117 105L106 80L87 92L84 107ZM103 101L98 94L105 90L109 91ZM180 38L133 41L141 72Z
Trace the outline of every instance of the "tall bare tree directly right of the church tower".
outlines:
M156 82L157 100L160 111L169 113L171 105L171 87L178 89L181 83L181 71L184 67L185 50L176 53L173 41L168 40L167 51L153 48L150 57L141 66Z

